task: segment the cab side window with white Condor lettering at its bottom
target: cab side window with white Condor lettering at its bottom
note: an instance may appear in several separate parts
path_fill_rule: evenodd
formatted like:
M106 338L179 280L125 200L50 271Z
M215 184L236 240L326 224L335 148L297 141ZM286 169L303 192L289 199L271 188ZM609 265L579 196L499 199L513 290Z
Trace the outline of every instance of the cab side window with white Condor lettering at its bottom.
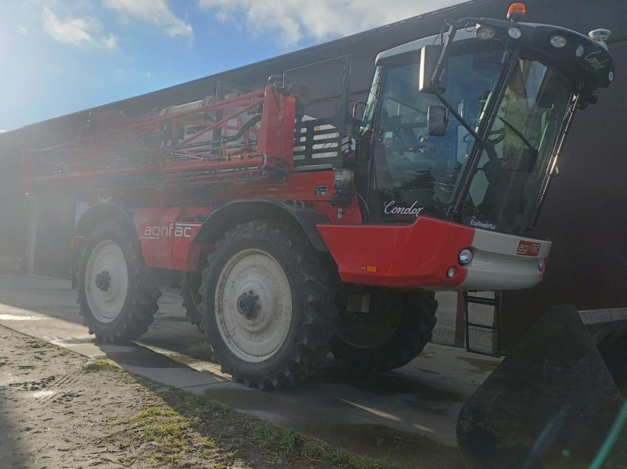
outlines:
M492 50L450 58L444 96L473 126L482 120L482 111L496 91L504 56L505 51ZM444 137L428 135L428 107L441 103L436 96L418 91L417 63L379 70L375 79L380 75L374 188L381 218L445 218L475 140L452 116ZM366 116L372 107L366 108Z

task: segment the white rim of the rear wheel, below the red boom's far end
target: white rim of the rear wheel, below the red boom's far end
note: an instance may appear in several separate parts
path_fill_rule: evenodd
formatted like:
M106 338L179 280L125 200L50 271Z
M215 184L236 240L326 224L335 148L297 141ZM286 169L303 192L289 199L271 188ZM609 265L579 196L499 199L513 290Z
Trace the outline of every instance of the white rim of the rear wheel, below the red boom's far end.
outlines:
M97 286L98 274L107 272L108 286ZM110 240L93 248L85 269L85 293L93 316L100 322L111 322L122 312L129 286L129 271L124 252ZM103 289L104 288L104 289Z

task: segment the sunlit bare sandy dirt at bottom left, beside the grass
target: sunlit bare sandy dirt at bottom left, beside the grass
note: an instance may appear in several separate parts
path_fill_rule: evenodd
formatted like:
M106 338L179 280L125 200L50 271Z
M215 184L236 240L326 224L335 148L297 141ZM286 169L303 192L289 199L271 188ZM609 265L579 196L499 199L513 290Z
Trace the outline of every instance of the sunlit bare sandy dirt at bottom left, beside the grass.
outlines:
M159 419L163 407L158 394L107 362L0 327L0 468L248 466L230 455L225 461L215 445L198 448L204 461L197 448L155 459L161 442L139 419Z

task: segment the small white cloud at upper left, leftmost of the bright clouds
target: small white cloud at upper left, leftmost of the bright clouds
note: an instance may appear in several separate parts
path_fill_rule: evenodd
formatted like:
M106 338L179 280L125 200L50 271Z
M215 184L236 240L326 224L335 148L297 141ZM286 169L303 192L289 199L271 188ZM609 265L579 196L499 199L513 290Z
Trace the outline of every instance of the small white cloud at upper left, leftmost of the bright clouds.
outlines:
M102 23L95 18L64 19L56 16L50 8L43 8L43 26L50 37L62 44L85 46L87 44L101 46L107 49L117 47L117 37L112 34L102 34Z

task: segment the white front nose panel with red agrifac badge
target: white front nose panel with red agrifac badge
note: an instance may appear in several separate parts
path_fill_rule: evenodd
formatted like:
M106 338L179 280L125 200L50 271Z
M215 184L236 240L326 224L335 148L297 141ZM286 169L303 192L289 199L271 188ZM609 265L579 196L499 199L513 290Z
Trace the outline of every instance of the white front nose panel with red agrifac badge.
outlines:
M522 241L522 243L521 243ZM551 241L475 229L473 258L460 287L468 290L516 290L536 286L543 276L538 261L546 259Z

